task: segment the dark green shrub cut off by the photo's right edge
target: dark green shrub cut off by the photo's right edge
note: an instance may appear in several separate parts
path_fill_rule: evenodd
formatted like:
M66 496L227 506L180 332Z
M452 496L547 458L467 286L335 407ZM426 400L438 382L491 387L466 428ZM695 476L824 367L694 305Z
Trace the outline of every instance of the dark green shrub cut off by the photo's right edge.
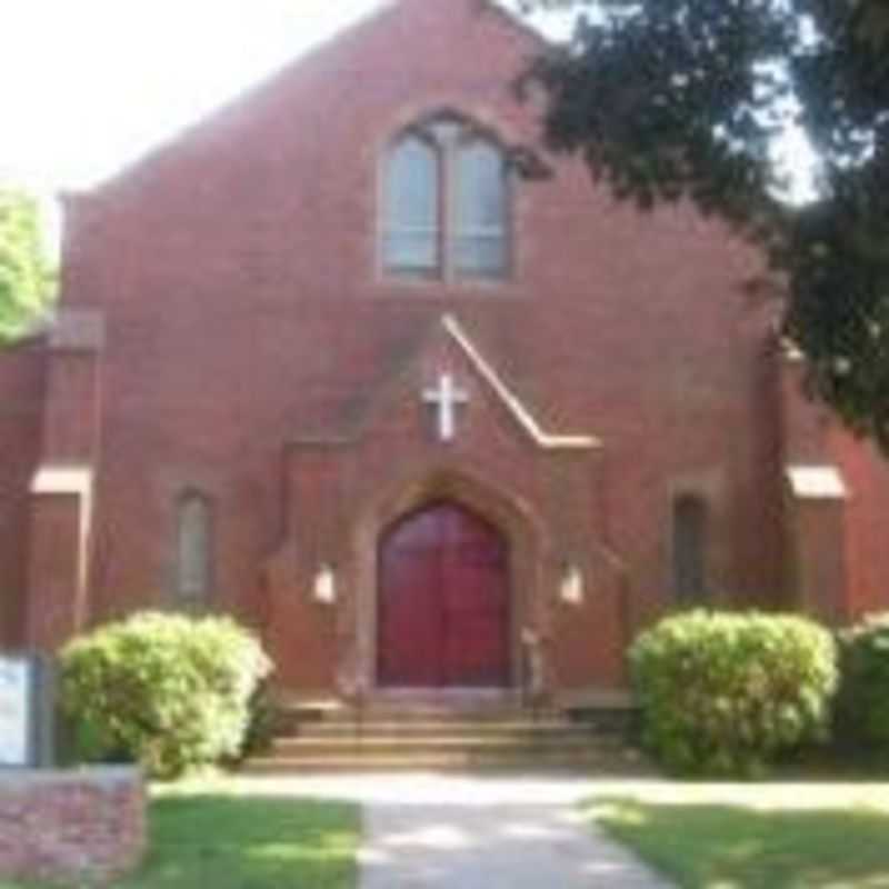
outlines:
M889 613L840 633L842 683L837 732L843 741L889 753Z

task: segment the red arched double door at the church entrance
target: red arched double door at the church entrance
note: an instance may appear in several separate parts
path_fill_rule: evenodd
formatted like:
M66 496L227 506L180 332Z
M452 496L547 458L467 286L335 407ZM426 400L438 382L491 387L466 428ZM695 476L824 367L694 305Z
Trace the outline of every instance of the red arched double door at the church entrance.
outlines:
M509 549L493 527L434 503L389 530L379 566L381 685L509 685Z

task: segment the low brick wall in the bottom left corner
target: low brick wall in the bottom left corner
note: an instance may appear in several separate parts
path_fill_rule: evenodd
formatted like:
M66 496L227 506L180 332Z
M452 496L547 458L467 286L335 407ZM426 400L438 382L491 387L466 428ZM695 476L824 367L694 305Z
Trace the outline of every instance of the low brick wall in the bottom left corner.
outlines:
M144 850L138 769L0 771L0 880L101 886Z

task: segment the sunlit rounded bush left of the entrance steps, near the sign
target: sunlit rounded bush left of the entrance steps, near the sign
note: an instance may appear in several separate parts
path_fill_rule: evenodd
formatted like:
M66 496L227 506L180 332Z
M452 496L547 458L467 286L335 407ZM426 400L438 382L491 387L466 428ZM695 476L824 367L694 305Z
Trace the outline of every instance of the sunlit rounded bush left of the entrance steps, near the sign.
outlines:
M137 761L158 778L237 755L269 673L259 642L228 618L137 615L61 656L62 710L90 761Z

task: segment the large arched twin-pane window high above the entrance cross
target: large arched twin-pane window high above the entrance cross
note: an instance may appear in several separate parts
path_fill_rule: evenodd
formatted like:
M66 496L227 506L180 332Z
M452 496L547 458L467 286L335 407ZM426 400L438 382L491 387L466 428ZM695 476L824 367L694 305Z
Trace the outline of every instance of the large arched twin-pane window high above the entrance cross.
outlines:
M507 273L506 157L458 118L433 118L390 148L383 214L387 272L442 279Z

